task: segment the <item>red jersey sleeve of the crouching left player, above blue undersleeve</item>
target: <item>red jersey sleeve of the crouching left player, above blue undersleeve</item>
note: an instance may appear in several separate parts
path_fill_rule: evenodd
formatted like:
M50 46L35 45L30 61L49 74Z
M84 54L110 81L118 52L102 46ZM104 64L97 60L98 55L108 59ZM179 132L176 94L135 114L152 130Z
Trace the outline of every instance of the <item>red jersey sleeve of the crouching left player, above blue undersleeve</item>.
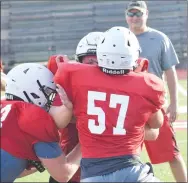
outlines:
M36 142L59 142L58 129L52 117L38 106L24 103L19 110L18 125Z

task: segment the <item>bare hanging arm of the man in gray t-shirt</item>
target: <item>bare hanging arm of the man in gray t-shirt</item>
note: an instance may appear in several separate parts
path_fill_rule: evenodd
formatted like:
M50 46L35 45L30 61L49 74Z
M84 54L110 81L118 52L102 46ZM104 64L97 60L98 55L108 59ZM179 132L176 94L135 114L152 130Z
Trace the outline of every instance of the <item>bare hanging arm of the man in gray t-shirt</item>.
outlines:
M177 118L178 109L178 80L175 66L165 71L166 81L170 94L170 105L167 108L166 113L169 115L170 122L174 122Z

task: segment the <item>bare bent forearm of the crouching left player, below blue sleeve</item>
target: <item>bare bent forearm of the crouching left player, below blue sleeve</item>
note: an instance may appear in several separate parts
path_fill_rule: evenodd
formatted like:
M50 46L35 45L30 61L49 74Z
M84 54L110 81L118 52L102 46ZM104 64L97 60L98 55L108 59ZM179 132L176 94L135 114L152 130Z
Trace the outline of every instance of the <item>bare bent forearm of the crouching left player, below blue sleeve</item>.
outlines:
M61 154L57 158L39 159L55 180L59 182L68 182L80 167L80 144L78 144L66 157L64 154Z

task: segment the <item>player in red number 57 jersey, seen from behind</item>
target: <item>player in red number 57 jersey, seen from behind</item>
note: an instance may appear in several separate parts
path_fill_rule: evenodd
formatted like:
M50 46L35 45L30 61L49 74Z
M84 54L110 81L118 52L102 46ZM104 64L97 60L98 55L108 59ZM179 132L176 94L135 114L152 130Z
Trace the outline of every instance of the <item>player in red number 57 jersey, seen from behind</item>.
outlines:
M158 181L139 155L145 125L163 124L164 85L152 74L133 72L138 57L134 34L114 27L97 45L98 66L59 65L55 82L77 119L82 182Z

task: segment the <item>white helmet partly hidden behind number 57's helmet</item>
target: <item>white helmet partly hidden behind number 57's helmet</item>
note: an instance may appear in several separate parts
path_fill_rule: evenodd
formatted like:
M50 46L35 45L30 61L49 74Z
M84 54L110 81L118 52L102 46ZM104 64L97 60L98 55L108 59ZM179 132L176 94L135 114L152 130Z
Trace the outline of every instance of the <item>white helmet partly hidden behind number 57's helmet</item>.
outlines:
M76 60L82 62L81 57L86 55L96 55L97 43L103 36L103 32L90 32L84 36L76 48Z

